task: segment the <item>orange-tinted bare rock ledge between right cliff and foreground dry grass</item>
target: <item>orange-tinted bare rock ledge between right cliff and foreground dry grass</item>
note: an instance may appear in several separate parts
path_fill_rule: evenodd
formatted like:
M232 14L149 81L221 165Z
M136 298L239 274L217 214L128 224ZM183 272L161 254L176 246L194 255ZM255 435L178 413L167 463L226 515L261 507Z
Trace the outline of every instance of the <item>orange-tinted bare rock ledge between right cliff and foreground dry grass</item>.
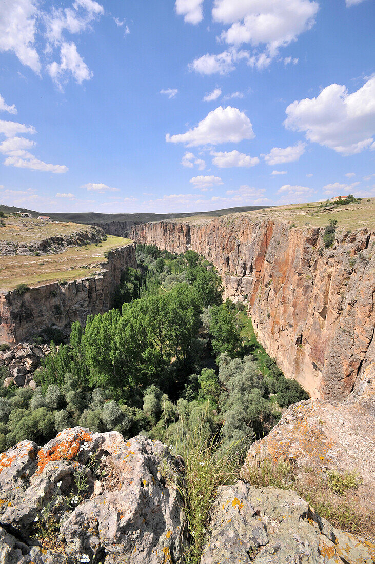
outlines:
M374 374L373 374L374 376ZM288 460L300 476L351 472L361 484L352 491L363 511L375 507L375 380L346 404L310 399L290 406L270 434L255 442L246 464Z

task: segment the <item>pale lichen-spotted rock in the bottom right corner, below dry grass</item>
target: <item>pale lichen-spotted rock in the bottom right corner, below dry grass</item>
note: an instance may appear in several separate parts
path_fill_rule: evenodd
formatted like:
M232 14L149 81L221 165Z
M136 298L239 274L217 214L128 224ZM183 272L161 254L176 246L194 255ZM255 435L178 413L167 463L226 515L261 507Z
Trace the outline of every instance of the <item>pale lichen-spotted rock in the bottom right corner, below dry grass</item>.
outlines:
M201 564L373 564L375 545L339 531L292 491L219 488Z

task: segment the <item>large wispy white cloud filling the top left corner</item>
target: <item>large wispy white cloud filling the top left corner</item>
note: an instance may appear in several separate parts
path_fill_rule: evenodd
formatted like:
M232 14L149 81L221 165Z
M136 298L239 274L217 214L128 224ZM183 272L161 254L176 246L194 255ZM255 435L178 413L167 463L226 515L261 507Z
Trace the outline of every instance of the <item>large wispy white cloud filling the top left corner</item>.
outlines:
M41 63L35 48L36 24L36 1L7 0L2 2L0 51L13 52L23 65L39 73Z

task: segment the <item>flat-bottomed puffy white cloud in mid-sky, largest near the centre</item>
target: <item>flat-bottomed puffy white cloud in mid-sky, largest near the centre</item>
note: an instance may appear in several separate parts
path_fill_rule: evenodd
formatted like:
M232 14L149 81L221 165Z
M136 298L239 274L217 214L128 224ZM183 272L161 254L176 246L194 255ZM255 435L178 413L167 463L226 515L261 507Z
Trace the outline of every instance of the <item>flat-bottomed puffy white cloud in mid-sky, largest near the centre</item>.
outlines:
M252 122L244 112L227 106L211 111L204 120L186 133L166 135L167 143L185 143L188 147L218 143L239 143L243 139L253 139Z

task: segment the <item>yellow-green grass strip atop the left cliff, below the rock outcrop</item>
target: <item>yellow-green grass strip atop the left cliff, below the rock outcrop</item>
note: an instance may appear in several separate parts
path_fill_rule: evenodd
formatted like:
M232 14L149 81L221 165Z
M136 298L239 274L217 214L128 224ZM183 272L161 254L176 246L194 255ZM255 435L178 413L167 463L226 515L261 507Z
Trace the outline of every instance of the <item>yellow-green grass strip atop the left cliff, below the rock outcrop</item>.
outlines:
M86 247L67 248L63 253L43 257L2 256L0 288L12 290L19 284L37 287L46 282L86 278L100 271L101 265L107 262L104 253L130 243L130 239L108 236L99 246L91 244Z

